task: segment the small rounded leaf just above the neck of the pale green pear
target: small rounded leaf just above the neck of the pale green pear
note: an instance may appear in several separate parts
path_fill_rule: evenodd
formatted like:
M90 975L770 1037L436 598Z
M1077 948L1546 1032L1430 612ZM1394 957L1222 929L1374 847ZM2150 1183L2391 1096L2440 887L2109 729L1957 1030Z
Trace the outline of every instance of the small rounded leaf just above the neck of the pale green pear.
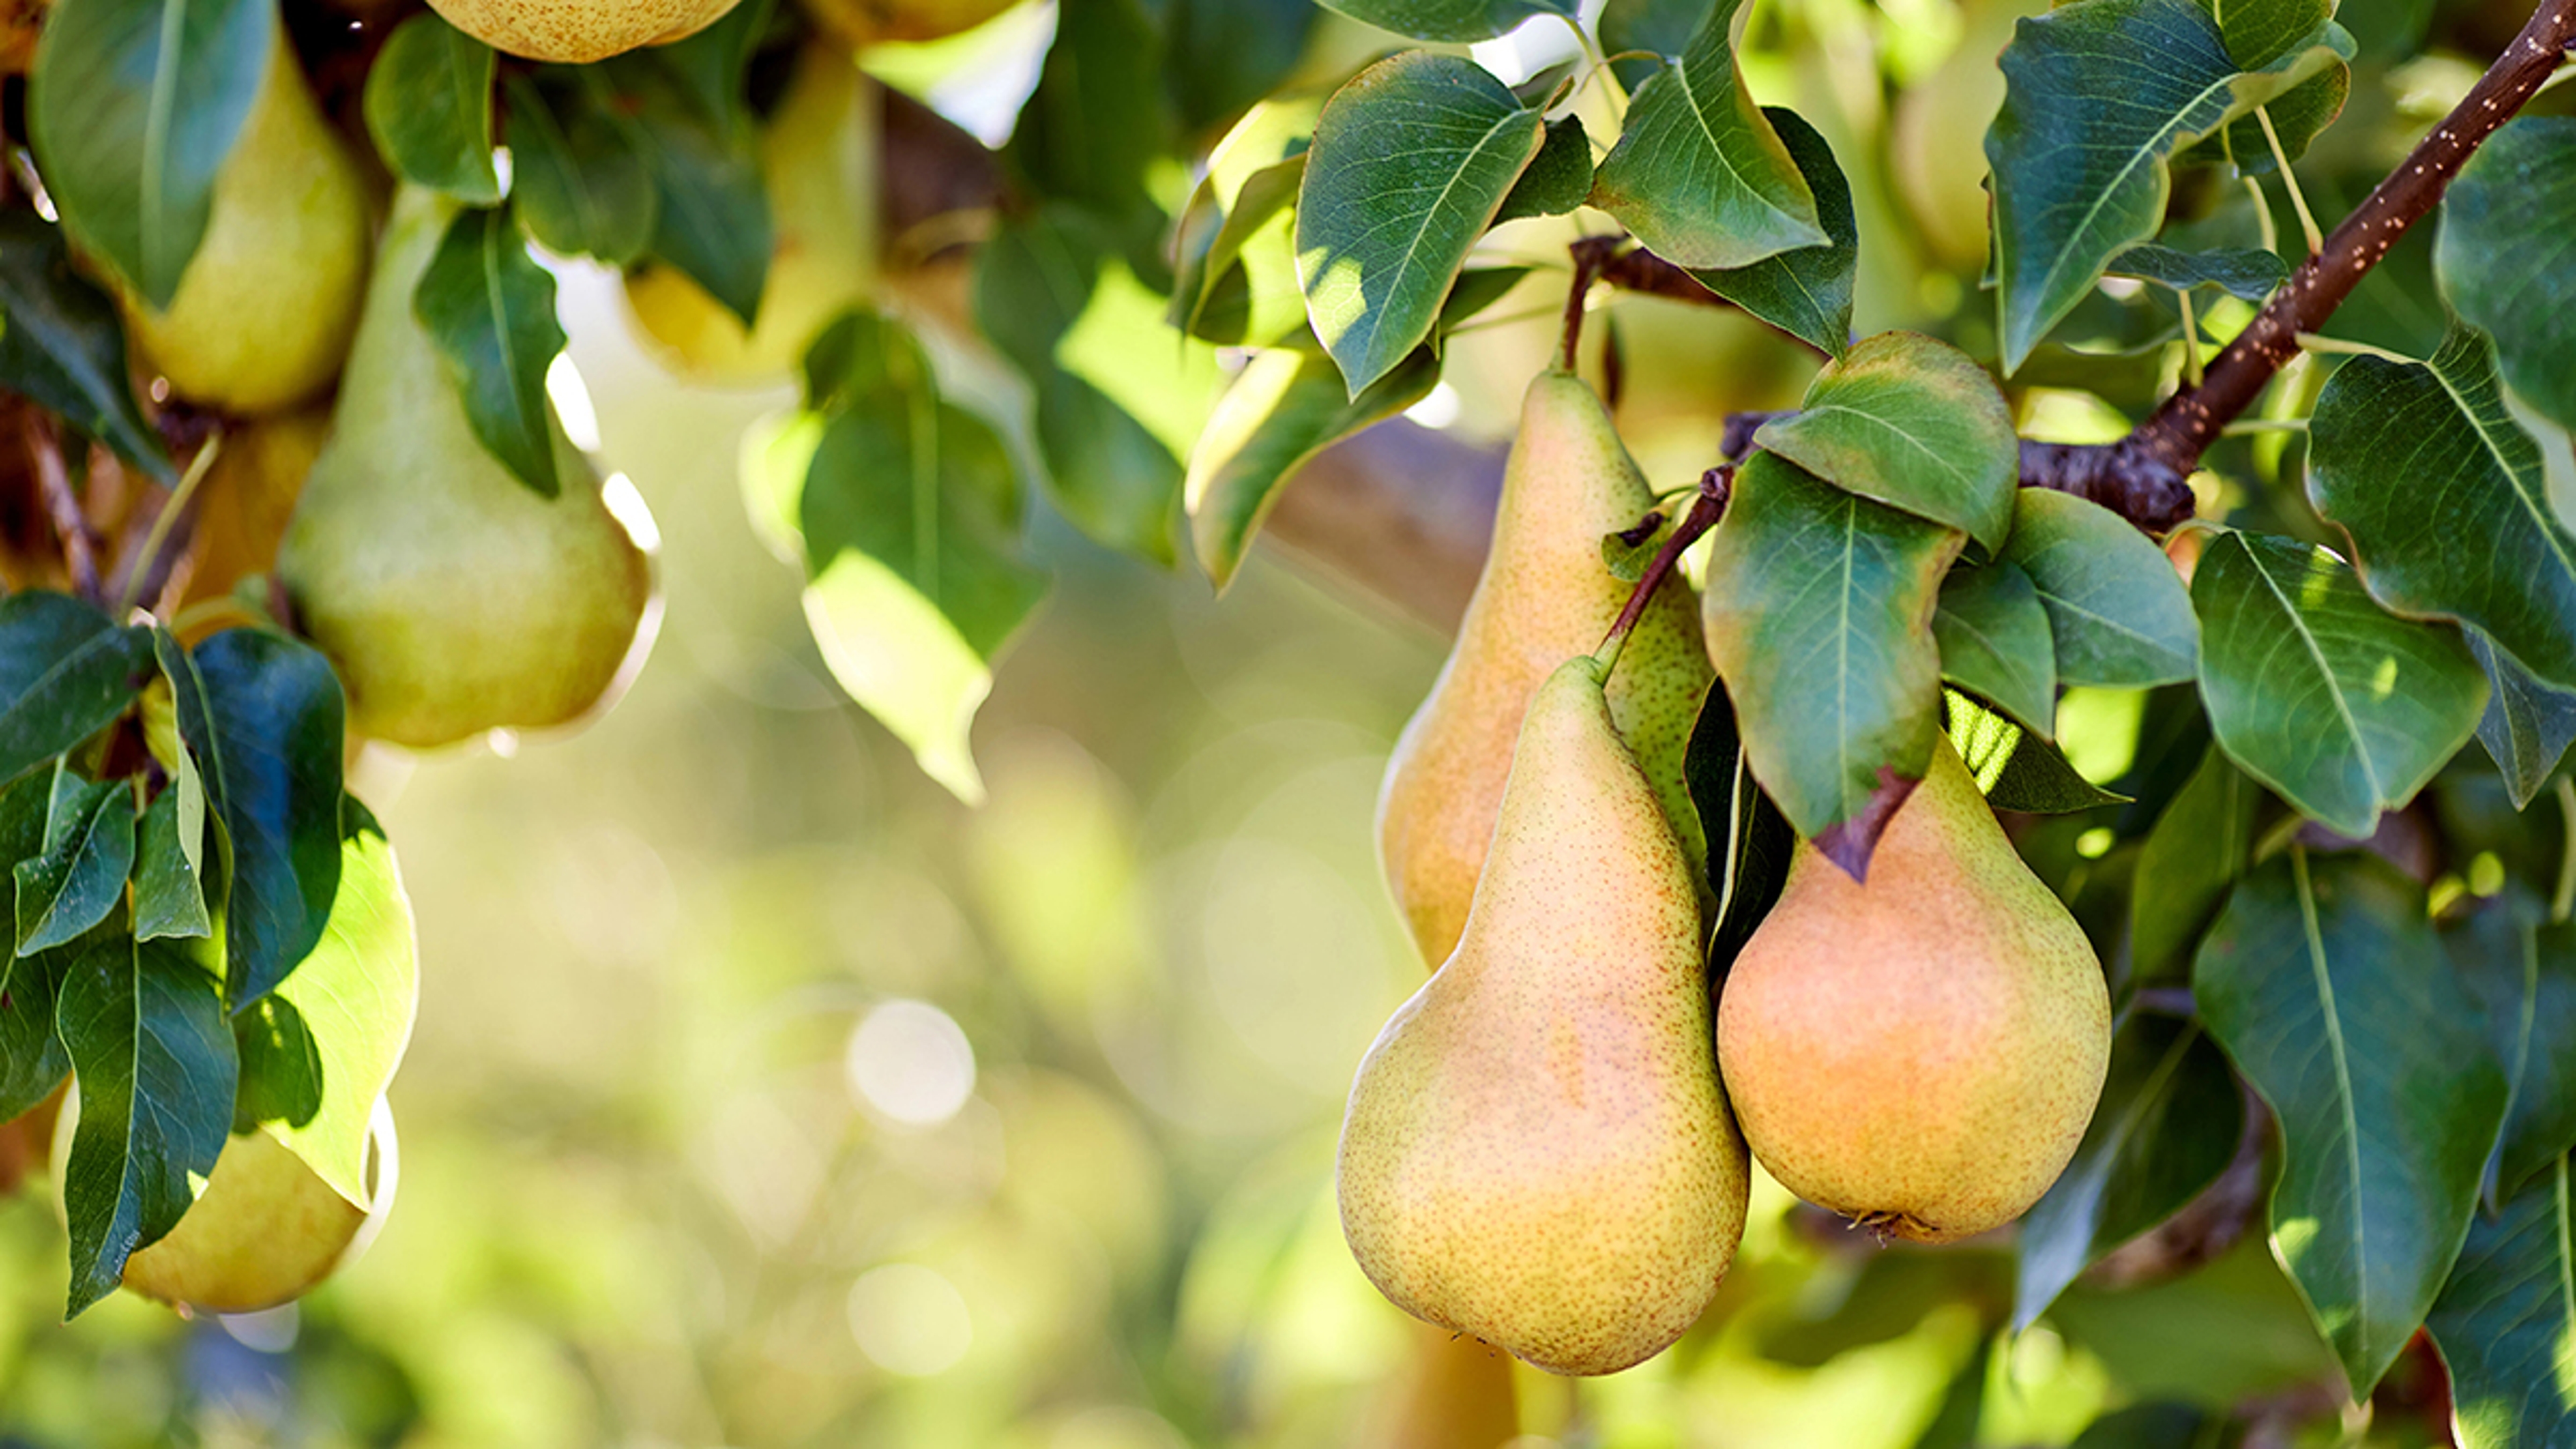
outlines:
M366 72L366 131L397 178L469 206L500 204L492 64L492 46L438 13L394 26Z

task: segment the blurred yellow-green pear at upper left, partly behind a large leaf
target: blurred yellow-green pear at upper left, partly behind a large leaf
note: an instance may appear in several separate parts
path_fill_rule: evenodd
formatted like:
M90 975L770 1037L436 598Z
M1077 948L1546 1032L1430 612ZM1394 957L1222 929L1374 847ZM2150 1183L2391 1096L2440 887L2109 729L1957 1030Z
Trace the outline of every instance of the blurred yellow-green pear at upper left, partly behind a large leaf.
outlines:
M301 402L340 371L366 291L366 183L278 36L242 137L214 173L206 237L155 309L118 284L144 364L227 413Z

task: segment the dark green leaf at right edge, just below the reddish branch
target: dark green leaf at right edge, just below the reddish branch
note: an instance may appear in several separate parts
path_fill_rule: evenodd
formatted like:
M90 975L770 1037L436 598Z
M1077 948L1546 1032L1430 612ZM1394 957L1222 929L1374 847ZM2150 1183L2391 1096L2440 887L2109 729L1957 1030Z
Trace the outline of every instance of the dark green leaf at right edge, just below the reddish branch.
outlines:
M2383 608L2476 624L2576 688L2576 534L2550 508L2540 443L2504 410L2483 333L2452 327L2432 364L2336 369L2308 420L2308 500L2352 536Z

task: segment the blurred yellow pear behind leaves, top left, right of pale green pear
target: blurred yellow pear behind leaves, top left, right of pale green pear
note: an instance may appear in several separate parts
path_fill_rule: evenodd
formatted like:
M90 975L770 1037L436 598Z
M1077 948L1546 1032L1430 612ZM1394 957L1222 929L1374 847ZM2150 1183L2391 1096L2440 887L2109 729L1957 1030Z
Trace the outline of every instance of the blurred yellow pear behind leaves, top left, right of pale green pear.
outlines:
M806 343L876 276L876 88L835 46L796 57L760 139L778 250L752 327L675 266L626 278L636 322L680 371L768 379L796 369Z

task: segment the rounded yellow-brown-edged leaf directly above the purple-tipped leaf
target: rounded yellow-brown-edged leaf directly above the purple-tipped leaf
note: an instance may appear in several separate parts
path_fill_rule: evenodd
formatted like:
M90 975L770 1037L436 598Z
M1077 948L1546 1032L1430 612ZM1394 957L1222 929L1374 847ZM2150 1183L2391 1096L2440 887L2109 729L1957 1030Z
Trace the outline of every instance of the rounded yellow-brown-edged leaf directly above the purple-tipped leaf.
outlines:
M1765 423L1754 446L1837 487L1960 529L1986 552L2012 534L2022 467L2012 410L1986 369L1922 333L1878 333L1826 364L1806 402Z

